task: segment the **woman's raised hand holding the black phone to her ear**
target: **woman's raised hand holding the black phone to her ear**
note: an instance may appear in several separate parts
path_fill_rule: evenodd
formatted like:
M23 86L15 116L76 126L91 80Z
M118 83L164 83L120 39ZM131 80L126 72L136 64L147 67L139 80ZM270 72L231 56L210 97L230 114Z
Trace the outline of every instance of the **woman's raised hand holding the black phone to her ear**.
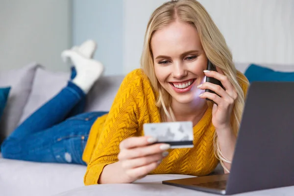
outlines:
M204 70L203 72L207 77L214 77L220 80L225 89L221 88L220 85L204 82L202 85L199 85L198 88L202 90L210 89L216 92L217 95L204 92L200 94L199 97L209 98L217 103L217 105L213 105L212 109L212 123L216 127L216 130L230 129L231 113L235 100L237 99L237 92L227 76L225 76L220 69L217 68L217 70L218 72L208 70Z

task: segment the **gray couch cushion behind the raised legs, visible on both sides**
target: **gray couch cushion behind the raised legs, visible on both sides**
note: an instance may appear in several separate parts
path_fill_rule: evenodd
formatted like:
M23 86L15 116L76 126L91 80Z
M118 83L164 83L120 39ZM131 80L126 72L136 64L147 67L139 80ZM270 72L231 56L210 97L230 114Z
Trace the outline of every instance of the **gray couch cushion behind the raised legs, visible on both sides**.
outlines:
M23 122L36 109L66 86L69 73L54 73L43 68L36 71L32 91L21 118ZM85 111L109 111L124 76L102 76L87 95Z

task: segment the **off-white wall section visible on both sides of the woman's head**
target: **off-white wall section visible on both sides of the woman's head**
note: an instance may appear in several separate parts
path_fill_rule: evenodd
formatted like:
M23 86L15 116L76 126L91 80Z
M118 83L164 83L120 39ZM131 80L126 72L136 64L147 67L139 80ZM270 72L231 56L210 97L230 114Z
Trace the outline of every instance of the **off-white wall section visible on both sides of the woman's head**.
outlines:
M124 0L123 67L140 67L152 11L166 0ZM199 0L240 63L294 64L294 0Z

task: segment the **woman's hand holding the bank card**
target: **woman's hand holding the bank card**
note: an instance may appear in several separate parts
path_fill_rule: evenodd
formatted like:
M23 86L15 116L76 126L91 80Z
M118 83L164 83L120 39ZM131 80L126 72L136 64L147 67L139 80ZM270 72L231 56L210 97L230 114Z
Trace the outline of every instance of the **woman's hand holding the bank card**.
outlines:
M130 137L120 144L119 163L125 172L126 183L145 177L157 168L161 160L168 155L168 144L153 144L156 139L150 137Z

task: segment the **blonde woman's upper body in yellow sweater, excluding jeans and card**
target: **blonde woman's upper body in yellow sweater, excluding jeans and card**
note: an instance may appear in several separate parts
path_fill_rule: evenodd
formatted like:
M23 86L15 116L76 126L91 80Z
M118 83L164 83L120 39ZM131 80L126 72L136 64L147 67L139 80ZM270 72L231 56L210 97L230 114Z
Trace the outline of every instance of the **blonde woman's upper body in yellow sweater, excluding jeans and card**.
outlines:
M217 72L206 70L208 59ZM229 172L248 81L200 3L169 1L153 12L141 66L124 78L109 113L94 115L82 154L84 183L130 183L148 173L206 175L218 159ZM224 89L204 82L206 76ZM193 148L170 149L144 136L144 123L172 121L193 122Z

